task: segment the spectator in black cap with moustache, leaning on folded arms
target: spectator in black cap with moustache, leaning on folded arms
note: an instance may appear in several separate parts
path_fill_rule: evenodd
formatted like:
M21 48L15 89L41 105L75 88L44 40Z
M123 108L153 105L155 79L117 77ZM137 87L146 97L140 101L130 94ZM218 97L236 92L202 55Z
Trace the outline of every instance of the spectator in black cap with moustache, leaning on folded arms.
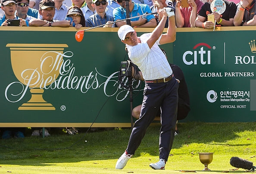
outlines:
M40 2L39 13L42 19L31 19L29 26L32 27L70 27L70 22L66 20L53 20L55 14L55 3L53 0L42 0Z

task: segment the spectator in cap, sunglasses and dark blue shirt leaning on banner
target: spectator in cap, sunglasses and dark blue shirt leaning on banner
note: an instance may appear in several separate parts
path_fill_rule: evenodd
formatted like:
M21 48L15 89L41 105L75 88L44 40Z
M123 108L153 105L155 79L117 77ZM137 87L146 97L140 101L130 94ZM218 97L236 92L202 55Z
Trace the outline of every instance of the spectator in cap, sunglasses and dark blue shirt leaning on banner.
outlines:
M96 13L91 15L86 20L86 27L96 27L104 25L103 27L112 27L113 24L108 24L114 21L114 17L106 14L106 7L108 3L106 0L93 0L92 6L96 9Z

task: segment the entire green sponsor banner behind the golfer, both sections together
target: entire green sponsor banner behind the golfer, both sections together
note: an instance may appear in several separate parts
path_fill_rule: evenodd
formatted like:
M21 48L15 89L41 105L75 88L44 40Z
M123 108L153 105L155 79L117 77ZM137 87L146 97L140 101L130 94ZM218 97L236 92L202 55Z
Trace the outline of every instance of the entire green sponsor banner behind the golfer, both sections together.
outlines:
M181 121L255 120L256 28L247 29L177 29L173 44L160 45L187 81L191 111ZM117 30L90 30L76 42L72 27L0 27L0 127L130 127L129 91L118 83L128 56ZM133 107L143 89L134 84Z

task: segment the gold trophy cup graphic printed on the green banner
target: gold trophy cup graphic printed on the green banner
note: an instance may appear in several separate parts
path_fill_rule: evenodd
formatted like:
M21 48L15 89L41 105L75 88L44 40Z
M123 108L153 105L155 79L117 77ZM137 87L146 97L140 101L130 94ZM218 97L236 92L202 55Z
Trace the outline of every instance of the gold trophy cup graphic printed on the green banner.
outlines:
M19 110L55 110L43 98L44 89L59 76L66 44L7 44L16 78L30 88L31 99ZM53 79L54 78L54 79Z

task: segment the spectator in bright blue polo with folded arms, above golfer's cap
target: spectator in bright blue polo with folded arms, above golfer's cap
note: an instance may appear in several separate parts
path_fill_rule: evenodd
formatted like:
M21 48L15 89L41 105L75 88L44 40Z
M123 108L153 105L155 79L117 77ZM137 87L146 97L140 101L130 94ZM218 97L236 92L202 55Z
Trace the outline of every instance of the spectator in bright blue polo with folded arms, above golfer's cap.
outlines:
M117 3L120 7L114 9L114 21L120 21L126 18L126 10L125 10L125 0L117 0ZM130 17L143 15L146 12L151 13L150 7L146 4L138 4L134 3L131 0L129 1L129 11ZM126 24L126 21L120 21L116 23L117 27L121 27ZM131 19L131 27L147 27L147 28L155 28L156 27L156 19L154 15L147 15L144 18L133 18Z

